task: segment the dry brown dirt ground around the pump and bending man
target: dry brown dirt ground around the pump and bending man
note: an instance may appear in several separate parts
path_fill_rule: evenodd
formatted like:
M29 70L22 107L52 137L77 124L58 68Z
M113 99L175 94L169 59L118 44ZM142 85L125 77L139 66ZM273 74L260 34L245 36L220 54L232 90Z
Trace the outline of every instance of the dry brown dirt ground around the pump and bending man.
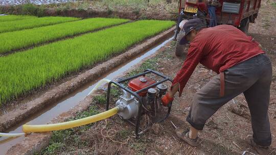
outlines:
M269 9L265 9L267 7ZM271 17L270 14L275 10L271 5L264 3L259 18L256 23L250 24L249 28L249 35L254 36L267 53L275 53L275 29L272 26L275 25L275 17ZM266 18L269 20L264 21ZM174 49L175 42L172 41L164 47L164 51L145 61L142 65L136 66L126 76L151 68L174 77L185 60L185 58L175 57ZM276 55L269 54L269 57L273 63L273 81L268 112L272 131L271 146L275 148ZM214 74L204 66L198 65L187 85ZM178 127L186 128L189 126L185 120L189 104L192 102L194 93L208 81L204 80L187 86L180 98L176 94L169 118L162 123L155 124L140 139L134 138L132 125L121 120L118 116L114 116L89 126L54 132L49 147L38 154L242 154L245 150L256 153L244 140L248 134L252 134L252 130L249 110L243 95L229 101L208 120L204 130L200 132L200 138L203 139L200 146L191 147L176 137L170 121L173 121ZM114 101L116 101L116 97L114 97ZM104 110L104 103L104 95L91 101L91 105L96 106L99 111ZM90 109L82 114L93 111ZM273 151L271 154L276 154L276 152Z

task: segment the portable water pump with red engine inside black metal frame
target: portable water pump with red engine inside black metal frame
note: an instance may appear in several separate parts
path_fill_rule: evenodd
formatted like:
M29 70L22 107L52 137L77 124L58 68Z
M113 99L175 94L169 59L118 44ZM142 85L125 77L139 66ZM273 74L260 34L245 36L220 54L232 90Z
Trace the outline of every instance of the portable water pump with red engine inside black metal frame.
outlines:
M148 74L153 74L161 80L154 81L146 76ZM116 85L123 92L116 102L116 107L119 108L118 115L135 126L135 135L139 137L148 131L153 123L162 122L170 115L171 105L165 108L161 102L162 96L167 93L168 87L165 85L167 81L172 82L169 77L151 69L118 82L110 81L107 89L106 110L109 109L111 85ZM126 82L128 82L127 86L125 86ZM166 111L165 114L164 111ZM148 115L152 120L144 128L140 125L142 115Z

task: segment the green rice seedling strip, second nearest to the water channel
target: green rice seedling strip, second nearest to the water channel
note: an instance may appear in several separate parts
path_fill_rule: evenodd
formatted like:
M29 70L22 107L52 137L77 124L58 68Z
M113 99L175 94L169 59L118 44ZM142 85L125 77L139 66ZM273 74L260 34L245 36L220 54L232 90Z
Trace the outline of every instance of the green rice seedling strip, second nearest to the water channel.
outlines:
M127 21L129 20L118 18L88 18L49 25L46 27L0 33L0 38L2 38L2 41L0 42L0 54L5 54L11 50L22 49L67 36L94 31Z

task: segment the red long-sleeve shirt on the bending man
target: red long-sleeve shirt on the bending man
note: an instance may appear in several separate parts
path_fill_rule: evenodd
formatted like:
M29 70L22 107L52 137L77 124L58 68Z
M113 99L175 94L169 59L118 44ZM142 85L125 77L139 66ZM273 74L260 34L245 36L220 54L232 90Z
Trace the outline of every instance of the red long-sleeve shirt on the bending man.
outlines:
M259 43L232 25L201 30L190 43L187 58L172 86L179 83L179 96L198 63L219 73L264 53Z

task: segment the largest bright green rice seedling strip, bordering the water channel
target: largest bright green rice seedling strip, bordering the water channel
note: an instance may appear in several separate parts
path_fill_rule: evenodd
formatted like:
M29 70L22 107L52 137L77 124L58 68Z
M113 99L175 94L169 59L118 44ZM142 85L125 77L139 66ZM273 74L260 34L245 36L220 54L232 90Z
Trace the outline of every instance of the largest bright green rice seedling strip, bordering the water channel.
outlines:
M0 104L107 60L174 24L140 20L0 57Z

